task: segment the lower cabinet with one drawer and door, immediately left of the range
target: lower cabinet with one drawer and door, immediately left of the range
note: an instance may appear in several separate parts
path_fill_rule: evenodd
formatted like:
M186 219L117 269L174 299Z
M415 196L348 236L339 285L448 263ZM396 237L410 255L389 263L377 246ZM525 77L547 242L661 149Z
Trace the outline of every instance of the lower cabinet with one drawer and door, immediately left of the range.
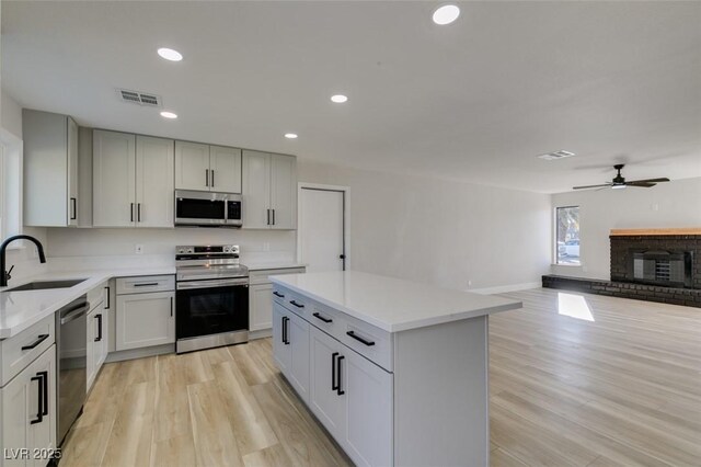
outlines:
M168 275L117 278L115 350L175 342L173 285L174 277Z

